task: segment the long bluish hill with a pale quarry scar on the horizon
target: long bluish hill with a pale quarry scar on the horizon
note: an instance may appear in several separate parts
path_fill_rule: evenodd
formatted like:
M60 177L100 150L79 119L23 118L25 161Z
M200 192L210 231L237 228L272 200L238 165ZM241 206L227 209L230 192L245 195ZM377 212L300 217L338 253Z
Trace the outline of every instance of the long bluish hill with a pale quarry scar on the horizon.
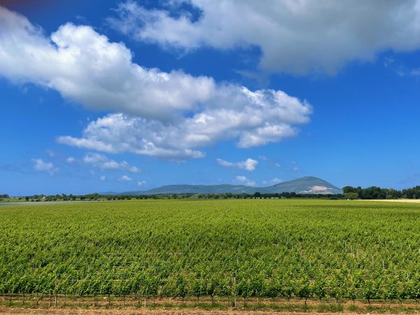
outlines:
M150 190L128 191L125 193L104 193L103 195L165 195L165 194L217 194L217 193L300 193L300 194L342 194L336 186L318 179L302 177L285 181L268 187L251 187L243 185L167 185Z

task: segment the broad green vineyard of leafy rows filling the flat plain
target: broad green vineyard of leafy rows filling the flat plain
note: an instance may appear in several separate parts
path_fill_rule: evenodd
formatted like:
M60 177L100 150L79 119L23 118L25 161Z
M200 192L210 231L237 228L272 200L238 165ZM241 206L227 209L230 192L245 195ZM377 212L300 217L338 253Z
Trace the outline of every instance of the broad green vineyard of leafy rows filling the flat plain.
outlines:
M140 200L0 208L0 294L420 299L418 204Z

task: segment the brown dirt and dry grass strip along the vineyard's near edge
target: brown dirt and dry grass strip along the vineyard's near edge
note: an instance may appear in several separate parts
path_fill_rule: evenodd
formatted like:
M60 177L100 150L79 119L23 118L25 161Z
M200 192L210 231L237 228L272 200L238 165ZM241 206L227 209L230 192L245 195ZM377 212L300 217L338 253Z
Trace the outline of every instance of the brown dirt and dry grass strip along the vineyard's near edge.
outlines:
M232 300L225 297L198 300L179 298L140 299L137 296L119 297L66 297L37 295L0 296L0 314L420 314L420 303L416 301L340 301L334 300L272 300L248 298L237 300L237 308L229 307ZM66 302L64 302L66 301ZM109 304L111 302L111 304ZM147 307L146 307L147 302ZM153 302L153 303L152 303ZM10 304L9 304L10 303ZM144 304L143 304L144 303ZM214 305L212 307L211 305Z

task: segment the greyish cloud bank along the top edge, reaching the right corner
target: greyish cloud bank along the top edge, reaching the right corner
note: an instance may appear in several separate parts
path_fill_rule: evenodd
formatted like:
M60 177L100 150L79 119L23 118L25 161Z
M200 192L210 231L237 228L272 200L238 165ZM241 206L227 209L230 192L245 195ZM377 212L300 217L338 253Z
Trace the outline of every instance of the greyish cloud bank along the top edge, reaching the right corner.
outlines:
M260 68L334 73L351 60L370 61L384 50L420 48L420 1L177 0L158 10L127 1L111 26L138 41L186 52L257 46ZM198 20L177 5L190 3ZM178 10L172 15L169 10Z

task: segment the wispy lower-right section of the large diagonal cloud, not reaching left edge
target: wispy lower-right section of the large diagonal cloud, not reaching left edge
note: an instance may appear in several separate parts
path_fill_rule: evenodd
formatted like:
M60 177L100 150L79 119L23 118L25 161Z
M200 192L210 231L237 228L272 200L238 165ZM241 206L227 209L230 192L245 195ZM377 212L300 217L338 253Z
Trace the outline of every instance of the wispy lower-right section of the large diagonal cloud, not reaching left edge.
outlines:
M217 141L234 140L239 148L278 142L297 134L293 125L309 121L311 106L281 91L226 86L219 93L225 95L217 98L220 102L215 99L174 123L115 113L89 123L80 138L62 136L57 141L108 153L185 160L202 158L197 148Z

